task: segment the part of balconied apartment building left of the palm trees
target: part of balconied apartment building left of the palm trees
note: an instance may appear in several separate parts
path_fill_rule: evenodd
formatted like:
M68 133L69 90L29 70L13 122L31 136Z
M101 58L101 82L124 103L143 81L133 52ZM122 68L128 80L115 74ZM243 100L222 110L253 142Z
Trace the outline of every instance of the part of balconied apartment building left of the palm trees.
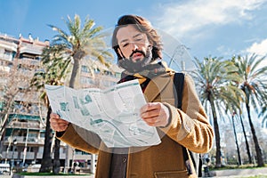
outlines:
M2 162L28 165L42 159L46 109L29 81L40 69L40 54L49 45L20 36L0 36Z

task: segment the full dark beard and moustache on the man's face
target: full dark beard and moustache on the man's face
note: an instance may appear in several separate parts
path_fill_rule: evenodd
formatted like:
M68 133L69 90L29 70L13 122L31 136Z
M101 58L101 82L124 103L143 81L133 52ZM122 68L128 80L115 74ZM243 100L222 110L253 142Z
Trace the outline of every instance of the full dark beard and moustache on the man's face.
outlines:
M145 68L145 66L150 64L152 60L151 48L149 47L146 53L142 51L137 51L137 52L142 53L144 56L144 58L141 61L133 61L131 57L130 59L126 59L124 56L122 60L118 61L118 66L131 73L138 73L142 71ZM135 51L134 53L137 53L137 52ZM131 56L133 56L134 53L132 53Z

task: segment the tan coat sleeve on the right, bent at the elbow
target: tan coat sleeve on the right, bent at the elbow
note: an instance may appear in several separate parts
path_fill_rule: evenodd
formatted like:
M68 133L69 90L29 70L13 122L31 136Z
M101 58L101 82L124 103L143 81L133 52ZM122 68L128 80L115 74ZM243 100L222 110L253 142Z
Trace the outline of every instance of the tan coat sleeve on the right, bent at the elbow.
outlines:
M170 110L170 122L160 128L175 142L198 153L211 150L214 141L212 125L208 122L206 112L201 105L194 82L185 75L182 92L182 110L170 103L164 103Z

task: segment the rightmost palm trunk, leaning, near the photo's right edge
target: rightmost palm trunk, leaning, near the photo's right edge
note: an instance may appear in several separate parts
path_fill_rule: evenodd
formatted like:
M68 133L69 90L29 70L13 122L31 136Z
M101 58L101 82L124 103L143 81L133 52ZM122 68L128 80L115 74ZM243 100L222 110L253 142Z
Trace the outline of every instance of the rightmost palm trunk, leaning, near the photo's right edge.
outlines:
M251 120L250 107L249 107L248 103L246 103L246 108L247 108L247 116L248 116L250 129L251 129L251 133L252 133L252 136L253 136L253 141L254 141L254 144L255 144L255 151L256 151L256 157L257 157L257 166L264 166L262 150L260 148L257 136L255 134L255 128L254 128L253 122Z

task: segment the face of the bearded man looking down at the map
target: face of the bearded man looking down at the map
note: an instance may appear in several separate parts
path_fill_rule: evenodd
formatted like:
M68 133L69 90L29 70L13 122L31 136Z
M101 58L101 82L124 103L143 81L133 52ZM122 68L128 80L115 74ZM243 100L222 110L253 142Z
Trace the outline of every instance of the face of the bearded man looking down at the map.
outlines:
M142 61L151 46L148 36L137 30L134 25L117 30L117 43L120 55L133 62Z

